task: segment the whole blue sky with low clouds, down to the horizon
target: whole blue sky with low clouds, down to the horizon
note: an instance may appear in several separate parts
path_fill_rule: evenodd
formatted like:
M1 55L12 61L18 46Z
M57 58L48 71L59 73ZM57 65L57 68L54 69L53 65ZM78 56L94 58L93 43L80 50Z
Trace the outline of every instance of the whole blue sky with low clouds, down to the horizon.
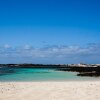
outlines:
M100 63L100 0L0 0L0 63Z

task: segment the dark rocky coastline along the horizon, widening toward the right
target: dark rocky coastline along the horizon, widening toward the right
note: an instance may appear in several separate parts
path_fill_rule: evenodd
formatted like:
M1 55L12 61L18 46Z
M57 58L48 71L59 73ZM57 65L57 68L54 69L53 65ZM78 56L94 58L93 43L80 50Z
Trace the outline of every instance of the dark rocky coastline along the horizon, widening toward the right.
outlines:
M55 68L58 71L78 72L77 76L100 76L100 64L0 64L11 68Z

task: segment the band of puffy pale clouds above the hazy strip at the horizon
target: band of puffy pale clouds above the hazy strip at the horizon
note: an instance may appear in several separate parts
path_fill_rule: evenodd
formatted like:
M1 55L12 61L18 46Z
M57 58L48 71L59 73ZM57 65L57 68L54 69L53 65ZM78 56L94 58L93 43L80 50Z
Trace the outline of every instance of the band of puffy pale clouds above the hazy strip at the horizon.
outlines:
M10 45L0 47L0 59L3 57L21 57L27 59L60 59L61 61L100 59L100 44L88 44L87 46L46 46L43 48L33 48L30 45L12 48ZM95 58L95 59L94 59ZM72 61L74 62L74 61Z

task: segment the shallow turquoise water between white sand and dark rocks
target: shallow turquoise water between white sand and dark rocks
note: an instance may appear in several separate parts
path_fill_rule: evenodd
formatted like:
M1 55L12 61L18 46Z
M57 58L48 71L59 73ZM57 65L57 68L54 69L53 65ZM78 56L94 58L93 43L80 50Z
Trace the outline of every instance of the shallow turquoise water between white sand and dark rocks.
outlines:
M0 72L0 81L68 81L92 80L92 77L79 77L76 72L56 71L55 69L5 68Z

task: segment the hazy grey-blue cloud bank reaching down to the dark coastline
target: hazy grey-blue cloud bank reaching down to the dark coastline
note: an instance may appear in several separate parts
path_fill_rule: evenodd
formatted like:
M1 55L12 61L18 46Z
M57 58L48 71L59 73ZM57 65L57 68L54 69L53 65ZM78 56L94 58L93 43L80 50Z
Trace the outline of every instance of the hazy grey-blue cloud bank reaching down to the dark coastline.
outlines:
M0 46L0 63L99 63L100 44L89 43L83 47L47 45L34 48L30 45Z

